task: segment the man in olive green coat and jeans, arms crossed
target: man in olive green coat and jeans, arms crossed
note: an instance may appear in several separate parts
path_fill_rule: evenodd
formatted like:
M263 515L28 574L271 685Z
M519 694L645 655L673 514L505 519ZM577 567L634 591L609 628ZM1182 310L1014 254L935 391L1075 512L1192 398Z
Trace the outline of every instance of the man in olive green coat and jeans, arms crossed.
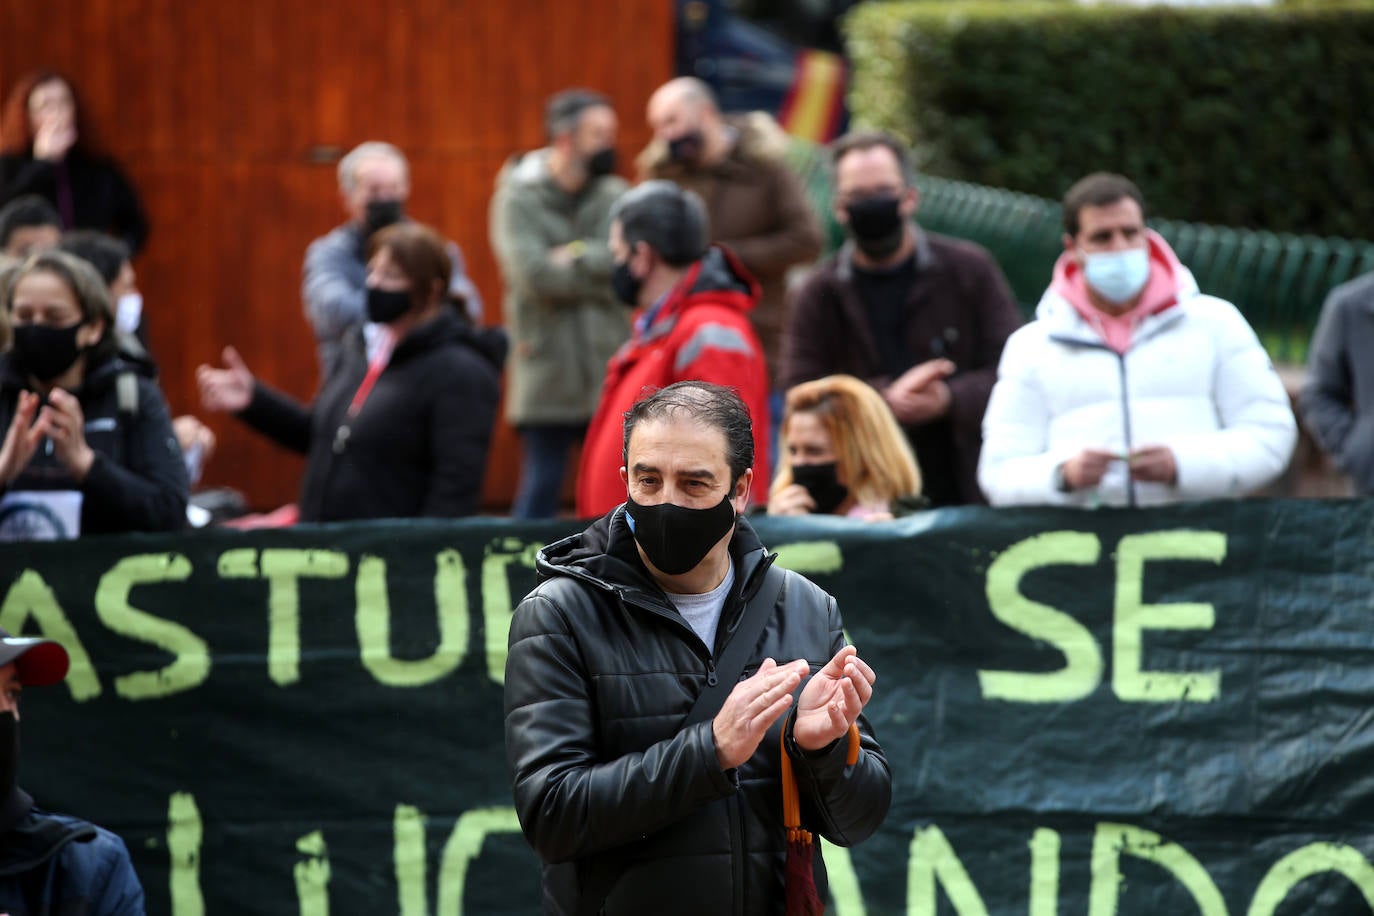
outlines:
M616 113L606 96L569 89L550 100L545 126L550 146L506 163L491 209L511 335L506 417L522 445L515 518L556 515L569 448L629 336L606 246L611 205L627 188L613 174Z

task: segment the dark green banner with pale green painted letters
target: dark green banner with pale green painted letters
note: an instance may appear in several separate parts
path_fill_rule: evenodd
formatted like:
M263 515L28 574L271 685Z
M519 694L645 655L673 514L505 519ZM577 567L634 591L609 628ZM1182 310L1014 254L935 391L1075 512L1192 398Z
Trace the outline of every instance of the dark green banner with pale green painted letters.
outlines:
M573 523L302 526L0 548L60 640L21 783L121 834L150 913L533 913L502 678ZM760 519L878 672L894 801L833 911L1374 911L1364 503Z

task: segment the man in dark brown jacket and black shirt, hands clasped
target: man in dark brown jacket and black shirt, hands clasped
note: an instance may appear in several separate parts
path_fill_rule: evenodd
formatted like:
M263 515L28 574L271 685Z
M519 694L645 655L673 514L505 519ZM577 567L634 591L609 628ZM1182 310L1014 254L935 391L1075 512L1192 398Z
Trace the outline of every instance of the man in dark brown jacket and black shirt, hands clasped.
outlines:
M1021 325L1006 277L981 247L914 222L921 195L896 139L841 137L831 168L849 242L796 291L780 382L867 380L907 431L932 504L984 503L982 412Z

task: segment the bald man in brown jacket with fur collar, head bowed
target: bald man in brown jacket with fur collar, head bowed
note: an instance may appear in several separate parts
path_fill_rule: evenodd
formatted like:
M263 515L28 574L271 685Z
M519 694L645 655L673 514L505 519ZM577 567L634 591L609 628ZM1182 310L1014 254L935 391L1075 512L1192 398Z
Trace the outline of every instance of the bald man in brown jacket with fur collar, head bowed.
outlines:
M649 100L654 139L640 179L668 179L706 203L710 240L731 249L763 287L750 313L778 390L787 269L820 255L820 225L787 168L787 135L768 114L724 117L701 80L680 77ZM780 404L779 404L780 407Z

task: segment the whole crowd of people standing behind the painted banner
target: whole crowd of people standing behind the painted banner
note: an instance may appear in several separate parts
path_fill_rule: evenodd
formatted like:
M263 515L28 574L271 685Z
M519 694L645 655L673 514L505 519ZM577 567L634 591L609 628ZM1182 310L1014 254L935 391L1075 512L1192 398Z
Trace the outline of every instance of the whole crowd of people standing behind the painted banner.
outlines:
M159 393L132 266L147 218L82 114L70 81L37 73L0 124L0 488L74 514L82 534L179 529L214 437ZM459 247L407 217L405 155L370 141L342 158L348 220L302 271L315 398L273 389L232 346L196 372L201 416L306 456L298 500L251 523L478 512L503 375L521 519L566 514L572 477L577 516L622 503L622 416L679 380L749 407L750 505L769 514L1150 505L1243 496L1287 467L1297 426L1260 342L1147 228L1129 179L1068 191L1063 251L1025 323L987 251L919 227L896 139L831 144L846 239L818 261L822 227L771 117L723 114L677 78L647 122L631 187L610 100L548 100L547 146L495 176L500 327L482 325ZM1352 354L1374 334L1370 301L1367 280L1333 294L1303 397L1362 492L1374 380ZM0 519L0 536L43 536L23 512Z

